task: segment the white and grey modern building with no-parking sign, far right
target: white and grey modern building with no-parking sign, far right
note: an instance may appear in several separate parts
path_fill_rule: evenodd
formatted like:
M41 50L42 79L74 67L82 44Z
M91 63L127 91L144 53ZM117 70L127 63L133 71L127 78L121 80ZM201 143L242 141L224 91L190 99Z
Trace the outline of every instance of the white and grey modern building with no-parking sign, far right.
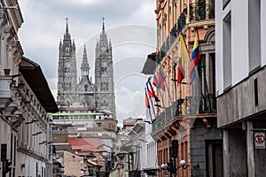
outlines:
M224 176L266 173L265 1L215 1L218 127Z

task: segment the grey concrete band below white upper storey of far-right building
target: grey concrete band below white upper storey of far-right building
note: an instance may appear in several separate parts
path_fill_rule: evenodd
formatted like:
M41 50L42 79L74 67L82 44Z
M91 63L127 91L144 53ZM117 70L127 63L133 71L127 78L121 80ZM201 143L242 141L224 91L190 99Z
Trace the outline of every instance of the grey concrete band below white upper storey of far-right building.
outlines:
M220 112L218 127L224 127L266 110L266 93L263 89L266 87L265 74L266 69L262 68L223 96L218 97L217 108ZM257 81L257 90L254 88L255 81ZM255 99L258 101L257 104Z

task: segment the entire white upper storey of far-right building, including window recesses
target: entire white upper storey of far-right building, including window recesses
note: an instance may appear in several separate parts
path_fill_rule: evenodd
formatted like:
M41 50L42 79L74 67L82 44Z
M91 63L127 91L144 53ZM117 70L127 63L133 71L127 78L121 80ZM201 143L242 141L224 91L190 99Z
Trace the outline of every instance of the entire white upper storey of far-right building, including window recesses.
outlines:
M223 7L223 1L215 1L215 26L216 26L216 88L217 95L223 94L223 90L234 86L244 80L258 66L265 65L265 2L231 0ZM226 31L226 26L231 27ZM255 28L254 28L255 27ZM226 35L230 35L229 41ZM224 53L225 45L231 42L229 54ZM256 47L253 47L256 46ZM229 56L228 56L229 55ZM225 56L230 57L231 69L224 65ZM256 61L258 58L258 61ZM254 63L254 61L256 61ZM239 67L241 64L241 67ZM225 84L223 71L231 74L231 81Z

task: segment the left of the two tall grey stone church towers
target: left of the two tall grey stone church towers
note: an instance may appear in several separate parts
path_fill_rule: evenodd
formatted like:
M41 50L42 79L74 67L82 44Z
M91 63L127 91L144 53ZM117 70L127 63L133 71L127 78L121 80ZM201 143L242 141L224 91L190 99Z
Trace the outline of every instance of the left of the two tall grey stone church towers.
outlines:
M59 69L58 69L58 102L70 104L76 100L77 70L75 59L75 44L68 32L66 18L66 33L63 42L59 42Z

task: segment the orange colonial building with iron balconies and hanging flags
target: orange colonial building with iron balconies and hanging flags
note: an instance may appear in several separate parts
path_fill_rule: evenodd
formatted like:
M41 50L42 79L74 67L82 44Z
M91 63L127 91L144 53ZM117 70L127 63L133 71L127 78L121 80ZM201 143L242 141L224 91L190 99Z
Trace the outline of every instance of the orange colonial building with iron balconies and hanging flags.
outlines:
M159 176L223 176L223 136L216 127L214 10L212 0L156 1L154 75L160 87L154 85L160 102L156 118L151 118L151 135L157 142ZM195 45L197 63L191 57Z

